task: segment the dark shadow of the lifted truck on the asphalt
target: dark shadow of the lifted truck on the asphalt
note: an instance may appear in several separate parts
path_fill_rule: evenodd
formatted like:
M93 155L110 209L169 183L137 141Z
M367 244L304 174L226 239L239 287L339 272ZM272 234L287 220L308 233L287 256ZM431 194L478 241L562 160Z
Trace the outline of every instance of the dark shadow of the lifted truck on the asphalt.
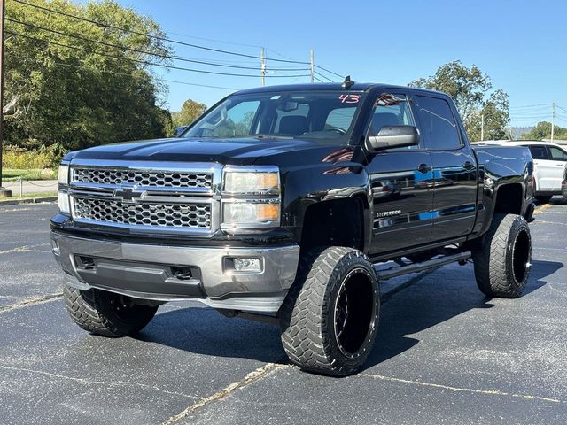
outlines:
M534 260L525 294L546 284L562 263ZM430 282L425 282L430 281ZM510 300L510 302L522 302ZM384 303L377 344L365 367L375 366L408 351L419 340L411 335L449 321L470 310L492 308L474 282L472 267L445 267ZM278 329L266 323L229 319L206 307L166 307L137 336L205 356L286 362ZM473 325L471 325L473 326Z

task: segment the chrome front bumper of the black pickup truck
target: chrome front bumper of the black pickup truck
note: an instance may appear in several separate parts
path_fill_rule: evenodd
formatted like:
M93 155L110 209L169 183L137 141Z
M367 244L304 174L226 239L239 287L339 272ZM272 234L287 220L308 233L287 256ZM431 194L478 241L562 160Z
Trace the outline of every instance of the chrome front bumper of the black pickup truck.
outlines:
M295 279L299 246L197 247L120 243L50 233L65 283L156 301L198 299L214 308L276 312ZM260 272L235 272L231 258L260 259ZM177 274L179 270L185 272ZM189 274L186 272L190 272Z

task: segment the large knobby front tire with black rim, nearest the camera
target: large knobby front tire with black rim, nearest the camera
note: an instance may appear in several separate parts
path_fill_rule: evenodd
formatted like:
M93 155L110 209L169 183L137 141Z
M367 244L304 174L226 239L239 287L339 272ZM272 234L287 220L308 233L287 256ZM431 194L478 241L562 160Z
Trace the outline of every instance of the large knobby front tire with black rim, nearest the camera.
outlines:
M377 276L361 251L311 251L280 309L283 348L303 370L351 375L372 350L379 313Z

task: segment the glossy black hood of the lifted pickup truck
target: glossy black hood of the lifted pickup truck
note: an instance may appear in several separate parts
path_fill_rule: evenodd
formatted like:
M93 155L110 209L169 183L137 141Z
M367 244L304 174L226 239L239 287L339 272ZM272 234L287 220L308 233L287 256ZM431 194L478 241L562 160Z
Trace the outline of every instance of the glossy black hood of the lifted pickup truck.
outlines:
M66 159L101 159L126 161L167 161L167 162L217 162L223 165L252 165L258 158L263 161L272 157L274 165L277 156L299 158L312 155L299 155L311 151L321 160L338 146L309 142L298 139L279 138L167 138L128 143L113 143L70 152ZM307 159L307 158L305 158ZM315 159L315 158L312 158Z

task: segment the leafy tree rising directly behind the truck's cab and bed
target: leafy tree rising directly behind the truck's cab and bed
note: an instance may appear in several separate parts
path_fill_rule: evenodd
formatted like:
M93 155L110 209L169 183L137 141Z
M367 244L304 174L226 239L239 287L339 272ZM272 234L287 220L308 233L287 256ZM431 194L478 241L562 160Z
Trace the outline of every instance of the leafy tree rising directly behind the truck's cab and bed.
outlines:
M440 66L434 75L411 81L409 85L443 91L452 97L470 140L480 140L482 115L485 117L485 140L506 137L508 95L502 89L491 92L490 77L478 66L469 68L456 60Z

